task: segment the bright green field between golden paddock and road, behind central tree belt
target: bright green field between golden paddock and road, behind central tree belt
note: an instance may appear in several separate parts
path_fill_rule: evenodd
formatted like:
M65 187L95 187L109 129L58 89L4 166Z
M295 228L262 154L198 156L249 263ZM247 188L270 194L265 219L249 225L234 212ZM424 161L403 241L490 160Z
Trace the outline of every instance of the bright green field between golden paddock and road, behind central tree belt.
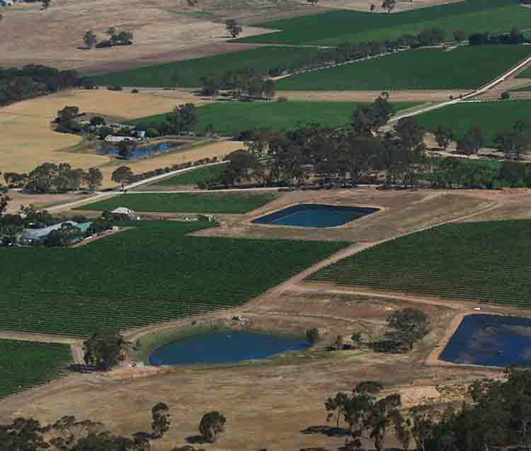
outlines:
M418 105L415 102L394 103L396 110ZM215 132L236 136L241 130L270 127L274 130L293 130L309 122L326 127L340 127L350 122L358 106L351 102L217 102L198 108L199 122L195 130L205 130L212 125ZM166 115L154 115L130 121L131 124L154 126L164 122Z

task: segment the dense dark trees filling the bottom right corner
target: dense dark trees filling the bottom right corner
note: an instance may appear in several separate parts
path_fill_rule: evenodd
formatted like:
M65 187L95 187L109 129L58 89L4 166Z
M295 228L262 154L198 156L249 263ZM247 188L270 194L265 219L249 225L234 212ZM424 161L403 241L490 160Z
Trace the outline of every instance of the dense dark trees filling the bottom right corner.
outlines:
M442 415L430 406L416 406L404 415L398 394L380 396L382 384L366 381L351 394L326 399L327 419L348 426L350 446L360 449L363 435L384 449L386 433L394 430L404 450L485 451L527 450L531 445L531 372L510 368L506 379L482 379L469 388L472 404L448 406ZM349 448L350 449L350 448Z

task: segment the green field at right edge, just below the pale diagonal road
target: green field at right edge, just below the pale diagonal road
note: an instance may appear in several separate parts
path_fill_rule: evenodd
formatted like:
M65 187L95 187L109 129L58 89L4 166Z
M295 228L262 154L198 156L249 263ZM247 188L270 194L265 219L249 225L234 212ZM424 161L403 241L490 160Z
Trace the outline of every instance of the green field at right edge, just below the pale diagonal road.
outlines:
M531 101L498 101L498 102L462 102L439 110L429 111L416 116L416 121L435 130L438 125L451 125L455 137L462 137L470 127L481 125L481 129L490 145L499 132L513 130L517 120L527 122L531 115Z

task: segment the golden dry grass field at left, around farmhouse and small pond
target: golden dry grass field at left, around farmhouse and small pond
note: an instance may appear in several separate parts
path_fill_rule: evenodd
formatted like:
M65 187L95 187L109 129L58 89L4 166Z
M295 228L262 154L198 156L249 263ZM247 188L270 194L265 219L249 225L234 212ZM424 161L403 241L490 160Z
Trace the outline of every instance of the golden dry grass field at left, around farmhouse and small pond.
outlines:
M113 162L106 156L88 152L60 152L61 149L67 149L81 142L79 136L57 133L50 127L50 121L65 105L79 106L79 110L84 113L99 113L117 119L132 119L144 115L166 113L175 105L184 102L205 103L204 100L182 91L164 91L159 95L152 91L132 94L125 91L101 89L65 91L8 105L0 108L0 127L3 137L0 142L0 170L26 172L45 161L52 163L65 161L74 167L83 169L112 164ZM190 154L182 152L176 158L168 156L166 161L190 161L199 154L209 156L207 152L195 149ZM215 152L218 152L217 149ZM152 166L144 162L139 164L142 168ZM136 165L136 163L131 164L134 171L136 171ZM102 171L107 172L106 167L102 168ZM105 186L108 185L109 179L110 177L105 180Z

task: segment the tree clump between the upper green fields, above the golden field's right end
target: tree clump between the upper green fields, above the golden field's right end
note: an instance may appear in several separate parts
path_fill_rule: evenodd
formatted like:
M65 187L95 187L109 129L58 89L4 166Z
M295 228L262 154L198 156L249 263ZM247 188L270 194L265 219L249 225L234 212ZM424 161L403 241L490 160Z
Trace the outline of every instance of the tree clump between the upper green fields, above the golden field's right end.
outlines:
M228 69L220 76L210 74L201 79L202 94L215 96L219 90L232 91L234 98L267 98L275 96L275 82L264 79L254 69Z

